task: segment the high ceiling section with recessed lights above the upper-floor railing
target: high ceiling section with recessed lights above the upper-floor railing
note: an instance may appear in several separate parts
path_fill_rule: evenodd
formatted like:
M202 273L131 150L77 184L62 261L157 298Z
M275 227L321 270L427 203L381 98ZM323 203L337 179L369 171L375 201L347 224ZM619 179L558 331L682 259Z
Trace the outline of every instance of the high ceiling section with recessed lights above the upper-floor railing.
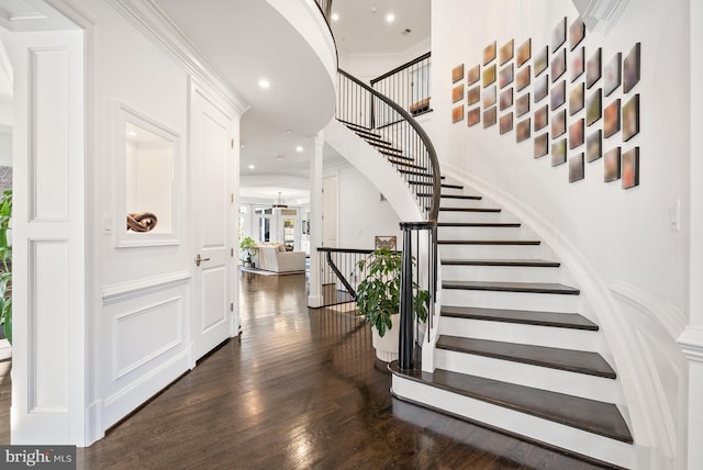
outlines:
M333 0L339 54L400 55L429 42L431 0ZM392 22L386 20L393 14ZM410 30L410 32L406 32Z

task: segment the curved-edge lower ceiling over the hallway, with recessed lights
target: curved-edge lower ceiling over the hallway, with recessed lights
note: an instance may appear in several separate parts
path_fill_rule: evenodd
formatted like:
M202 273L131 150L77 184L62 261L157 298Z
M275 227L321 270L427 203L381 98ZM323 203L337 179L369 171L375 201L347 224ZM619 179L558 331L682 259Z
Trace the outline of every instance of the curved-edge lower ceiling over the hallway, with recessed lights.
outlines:
M250 104L242 118L242 174L308 175L310 137L334 113L334 88L299 32L261 0L154 3ZM263 78L270 88L259 87Z

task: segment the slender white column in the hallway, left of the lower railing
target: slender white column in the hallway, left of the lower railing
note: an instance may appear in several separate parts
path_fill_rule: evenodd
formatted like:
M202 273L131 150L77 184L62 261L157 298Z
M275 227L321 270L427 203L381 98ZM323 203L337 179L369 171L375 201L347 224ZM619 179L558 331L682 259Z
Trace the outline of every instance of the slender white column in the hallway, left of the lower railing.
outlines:
M315 136L315 155L310 161L310 295L308 306L322 306L320 289L320 255L322 246L322 152L325 144L324 132Z

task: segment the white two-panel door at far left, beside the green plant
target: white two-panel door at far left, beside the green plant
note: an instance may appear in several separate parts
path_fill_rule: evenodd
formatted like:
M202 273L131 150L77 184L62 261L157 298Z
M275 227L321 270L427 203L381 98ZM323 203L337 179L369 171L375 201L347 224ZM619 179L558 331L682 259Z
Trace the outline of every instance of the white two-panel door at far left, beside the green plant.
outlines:
M7 36L14 69L12 444L85 445L83 36Z

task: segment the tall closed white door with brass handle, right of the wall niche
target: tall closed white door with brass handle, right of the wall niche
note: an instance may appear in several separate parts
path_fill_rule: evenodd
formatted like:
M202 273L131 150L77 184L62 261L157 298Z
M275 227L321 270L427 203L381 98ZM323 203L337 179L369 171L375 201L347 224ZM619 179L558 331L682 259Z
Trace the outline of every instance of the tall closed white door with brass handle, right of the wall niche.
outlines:
M196 85L191 87L190 178L194 292L192 361L233 331L233 121Z

